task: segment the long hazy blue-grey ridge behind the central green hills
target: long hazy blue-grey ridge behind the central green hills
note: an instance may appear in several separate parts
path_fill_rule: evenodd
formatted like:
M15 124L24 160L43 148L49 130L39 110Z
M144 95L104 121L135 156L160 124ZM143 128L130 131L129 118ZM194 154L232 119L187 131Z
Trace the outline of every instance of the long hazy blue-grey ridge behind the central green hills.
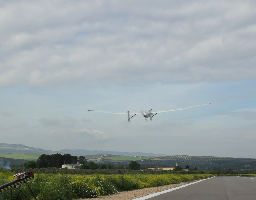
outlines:
M61 149L59 152L65 154L71 154L76 156L86 156L94 154L113 154L122 156L170 156L167 154L153 154L153 153L141 153L141 152L123 152L123 151L99 151L99 150L85 150L85 149Z

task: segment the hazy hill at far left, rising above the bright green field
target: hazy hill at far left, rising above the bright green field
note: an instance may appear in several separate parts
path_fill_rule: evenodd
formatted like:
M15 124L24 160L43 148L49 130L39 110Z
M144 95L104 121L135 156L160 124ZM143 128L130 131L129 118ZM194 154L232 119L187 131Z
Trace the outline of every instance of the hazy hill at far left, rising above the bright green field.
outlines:
M36 153L36 154L56 154L57 151L49 151L34 147L28 147L25 145L12 145L0 143L0 153L10 153L10 154L27 154L27 153Z

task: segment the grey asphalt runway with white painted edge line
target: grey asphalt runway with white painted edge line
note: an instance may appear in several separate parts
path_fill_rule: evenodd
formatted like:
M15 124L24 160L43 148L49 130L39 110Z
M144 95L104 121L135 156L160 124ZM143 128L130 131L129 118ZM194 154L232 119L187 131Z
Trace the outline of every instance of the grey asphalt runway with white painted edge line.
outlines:
M216 176L152 196L147 195L136 200L255 200L256 177Z

